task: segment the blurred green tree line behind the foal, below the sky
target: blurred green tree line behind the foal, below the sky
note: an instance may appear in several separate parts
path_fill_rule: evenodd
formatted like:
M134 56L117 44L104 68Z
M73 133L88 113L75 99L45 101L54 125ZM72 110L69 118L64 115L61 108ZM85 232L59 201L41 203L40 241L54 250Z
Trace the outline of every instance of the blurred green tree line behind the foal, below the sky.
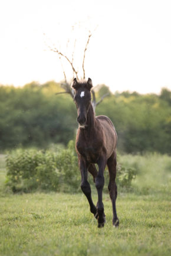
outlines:
M67 145L77 131L77 111L60 83L32 82L22 88L0 86L0 150L16 147L47 148L51 143ZM111 93L105 85L95 88L96 108L107 115L118 134L118 149L125 153L157 151L170 154L171 91L160 95L137 92Z

